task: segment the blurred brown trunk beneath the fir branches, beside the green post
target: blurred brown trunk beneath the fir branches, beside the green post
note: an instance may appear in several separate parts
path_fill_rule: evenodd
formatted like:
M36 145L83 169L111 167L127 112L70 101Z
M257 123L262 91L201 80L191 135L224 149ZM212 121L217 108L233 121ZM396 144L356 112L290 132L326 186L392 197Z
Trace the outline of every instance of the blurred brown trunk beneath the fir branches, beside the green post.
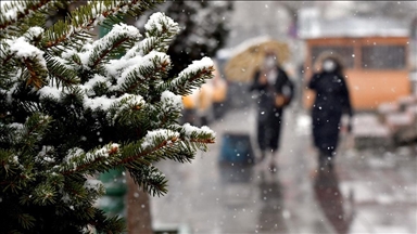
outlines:
M153 234L149 195L126 173L127 229L129 234Z

